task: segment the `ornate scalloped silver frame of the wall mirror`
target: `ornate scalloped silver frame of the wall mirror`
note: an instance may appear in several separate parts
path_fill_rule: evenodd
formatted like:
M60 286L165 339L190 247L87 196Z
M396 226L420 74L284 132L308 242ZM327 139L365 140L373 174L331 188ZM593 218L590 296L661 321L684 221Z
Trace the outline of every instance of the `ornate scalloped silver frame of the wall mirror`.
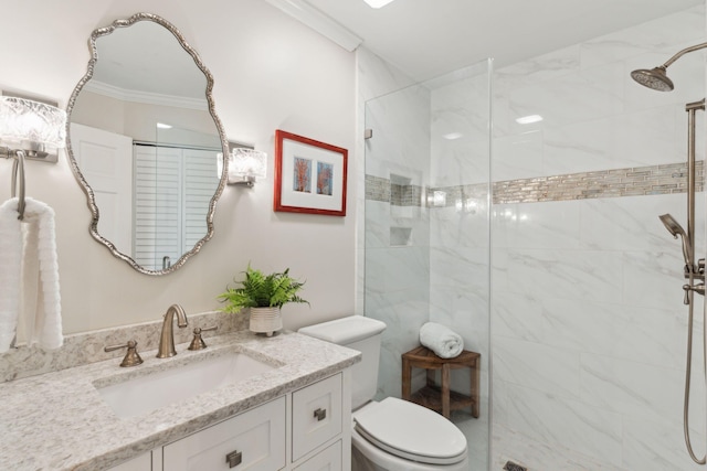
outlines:
M155 23L163 26L165 29L167 29L169 32L171 32L173 34L173 36L177 39L177 41L179 42L179 45L193 58L196 65L204 74L205 81L207 81L205 97L207 97L209 114L213 118L215 128L218 130L218 133L219 133L219 137L220 137L220 141L221 141L220 143L221 143L221 149L222 149L223 156L228 154L228 152L229 152L229 143L228 143L228 140L226 140L225 132L223 130L223 126L221 124L221 120L217 116L215 107L214 107L214 103L213 103L213 97L212 97L213 77L212 77L211 73L209 72L207 66L201 62L201 58L199 57L199 54L197 54L197 52L187 43L187 41L181 35L179 30L175 25L172 25L171 23L166 21L165 19L162 19L162 18L160 18L158 15L151 14L151 13L136 13L136 14L134 14L133 17L130 17L128 19L116 20L109 26L99 28L97 30L94 30L94 32L91 34L91 38L89 38L89 41L88 41L88 45L89 45L89 50L91 50L91 60L88 61L87 71L86 71L86 74L84 75L84 77L78 82L78 84L74 88L74 92L71 95L71 98L70 98L68 105L67 105L67 109L66 109L67 115L68 115L68 119L66 120L66 140L67 140L66 149L67 149L67 154L68 154L68 161L70 161L70 164L71 164L72 170L74 172L74 175L76 176L76 179L78 180L81 186L83 188L84 192L86 193L88 207L89 207L91 214L92 214L89 232L91 232L91 235L93 236L93 238L95 238L98 243L105 245L115 257L127 261L133 268L135 268L137 271L139 271L141 274L145 274L145 275L167 275L167 274L170 274L170 272L179 269L180 267L182 267L187 263L187 260L191 256L196 255L201 249L201 246L203 246L203 244L207 243L213 236L213 214L214 214L214 211L215 211L217 201L221 196L221 193L223 192L223 188L225 186L226 175L228 175L228 159L223 159L223 168L222 168L221 175L220 175L220 179L219 179L219 184L218 184L218 188L215 190L215 193L213 194L213 196L211 197L211 201L209 203L209 208L208 208L208 213L207 213L207 221L205 221L205 223L207 223L207 234L203 236L203 238L201 238L199 242L196 243L193 248L191 248L190 250L183 253L181 255L181 257L176 263L171 264L168 267L162 267L161 270L157 270L157 269L154 270L154 269L146 268L146 267L139 265L138 263L136 263L136 260L133 257L122 253L115 246L114 242L108 240L107 238L105 238L104 236L102 236L98 233L99 211L98 211L98 206L96 205L96 197L95 197L95 194L94 194L94 190L91 188L91 185L87 183L86 179L84 178L84 174L82 173L82 171L81 171L81 169L78 167L78 162L75 159L74 151L73 151L72 143L71 143L71 115L72 115L72 110L74 109L74 106L76 104L76 98L78 97L80 93L82 92L82 89L84 88L86 83L88 81L91 81L91 78L93 77L94 68L95 68L96 62L98 61L98 51L97 51L97 47L96 47L96 40L102 38L102 36L107 35L107 34L113 33L118 28L127 28L127 26L130 26L130 25L133 25L133 24L135 24L136 22L139 22L139 21L151 21L151 22L155 22Z

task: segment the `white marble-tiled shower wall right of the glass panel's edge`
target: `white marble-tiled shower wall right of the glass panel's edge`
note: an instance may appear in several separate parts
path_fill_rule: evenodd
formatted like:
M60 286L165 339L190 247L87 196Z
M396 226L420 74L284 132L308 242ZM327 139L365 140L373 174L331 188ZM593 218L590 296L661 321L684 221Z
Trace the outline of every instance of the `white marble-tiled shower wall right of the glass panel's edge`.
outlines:
M685 194L671 182L642 182L633 195L604 180L562 197L555 178L611 180L633 169L636 178L666 170L661 179L679 180L684 105L705 96L704 56L671 68L679 84L672 94L635 85L629 72L704 38L700 6L495 73L494 190L524 184L492 208L494 470L509 458L563 471L701 469L683 443L684 263L657 218L669 212L685 224ZM544 120L515 121L528 115ZM534 195L545 191L534 182L552 197ZM704 255L703 193L697 202ZM704 394L696 384L693 397ZM696 403L695 443L704 443L704 421Z

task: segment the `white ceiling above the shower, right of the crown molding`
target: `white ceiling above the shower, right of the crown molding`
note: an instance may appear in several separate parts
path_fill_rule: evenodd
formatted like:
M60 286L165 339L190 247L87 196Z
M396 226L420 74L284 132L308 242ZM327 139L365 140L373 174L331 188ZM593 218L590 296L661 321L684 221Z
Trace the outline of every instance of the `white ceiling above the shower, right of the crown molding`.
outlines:
M305 0L363 45L423 81L487 57L496 67L705 0Z

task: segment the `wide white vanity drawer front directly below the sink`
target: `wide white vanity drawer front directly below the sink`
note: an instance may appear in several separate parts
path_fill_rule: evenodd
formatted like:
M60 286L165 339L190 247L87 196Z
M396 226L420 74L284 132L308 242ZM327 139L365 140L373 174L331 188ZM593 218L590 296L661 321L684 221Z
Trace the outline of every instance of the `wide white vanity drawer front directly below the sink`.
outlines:
M241 453L230 467L226 456ZM238 458L233 458L236 463ZM273 471L285 467L285 398L281 397L163 448L165 471Z

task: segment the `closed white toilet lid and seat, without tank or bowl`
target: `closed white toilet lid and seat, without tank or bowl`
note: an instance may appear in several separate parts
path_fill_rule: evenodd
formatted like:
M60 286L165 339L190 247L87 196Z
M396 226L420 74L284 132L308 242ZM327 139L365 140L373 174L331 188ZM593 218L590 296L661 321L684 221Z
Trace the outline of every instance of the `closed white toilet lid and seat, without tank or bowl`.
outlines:
M355 414L356 430L398 457L429 464L464 459L466 438L440 414L407 400L387 397Z

